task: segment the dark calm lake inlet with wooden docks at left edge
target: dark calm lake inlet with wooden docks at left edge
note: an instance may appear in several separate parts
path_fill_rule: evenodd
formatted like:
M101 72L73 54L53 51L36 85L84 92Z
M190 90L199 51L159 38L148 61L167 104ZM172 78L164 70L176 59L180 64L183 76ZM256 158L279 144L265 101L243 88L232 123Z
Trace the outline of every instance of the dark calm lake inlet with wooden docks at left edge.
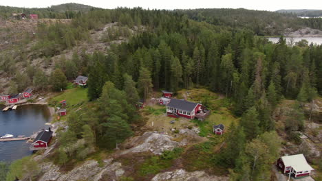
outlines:
M3 106L0 106L1 110ZM13 134L14 136L31 136L50 120L50 111L43 105L18 106L17 110L0 112L0 135ZM32 154L29 150L30 143L26 141L0 142L0 161L11 162Z

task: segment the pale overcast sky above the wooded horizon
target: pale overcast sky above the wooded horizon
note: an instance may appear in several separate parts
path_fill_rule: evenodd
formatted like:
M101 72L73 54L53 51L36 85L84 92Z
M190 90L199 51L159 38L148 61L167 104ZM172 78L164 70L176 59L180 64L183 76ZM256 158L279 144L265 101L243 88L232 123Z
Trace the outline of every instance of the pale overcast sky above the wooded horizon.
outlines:
M322 10L321 0L0 0L0 5L46 8L61 3L83 3L98 8L142 7L150 9L246 8L250 10L314 9Z

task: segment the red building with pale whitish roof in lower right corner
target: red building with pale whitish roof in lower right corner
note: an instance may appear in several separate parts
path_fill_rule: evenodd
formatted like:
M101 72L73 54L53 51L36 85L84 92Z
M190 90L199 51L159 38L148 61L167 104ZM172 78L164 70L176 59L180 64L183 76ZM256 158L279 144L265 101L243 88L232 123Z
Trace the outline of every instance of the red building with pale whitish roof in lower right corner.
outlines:
M277 167L283 173L291 173L291 176L294 178L310 176L311 171L314 170L308 165L303 154L282 156L277 160Z

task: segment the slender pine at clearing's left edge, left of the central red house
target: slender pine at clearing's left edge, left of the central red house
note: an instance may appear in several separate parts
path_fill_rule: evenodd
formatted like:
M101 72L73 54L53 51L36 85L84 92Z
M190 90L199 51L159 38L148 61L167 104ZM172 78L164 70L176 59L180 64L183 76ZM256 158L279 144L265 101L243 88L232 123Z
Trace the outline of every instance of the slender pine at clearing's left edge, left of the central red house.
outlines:
M140 77L138 79L138 88L141 91L144 101L152 91L153 84L151 83L151 73L147 69L141 67Z

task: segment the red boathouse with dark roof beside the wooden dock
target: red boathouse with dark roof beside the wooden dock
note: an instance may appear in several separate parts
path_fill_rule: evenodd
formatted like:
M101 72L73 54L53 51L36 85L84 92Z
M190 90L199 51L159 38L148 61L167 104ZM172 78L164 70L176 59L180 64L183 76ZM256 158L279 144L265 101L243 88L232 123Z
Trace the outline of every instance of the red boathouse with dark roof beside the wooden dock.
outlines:
M36 138L34 138L34 142L32 143L30 150L47 149L51 140L52 131L50 129L43 130L39 132Z

